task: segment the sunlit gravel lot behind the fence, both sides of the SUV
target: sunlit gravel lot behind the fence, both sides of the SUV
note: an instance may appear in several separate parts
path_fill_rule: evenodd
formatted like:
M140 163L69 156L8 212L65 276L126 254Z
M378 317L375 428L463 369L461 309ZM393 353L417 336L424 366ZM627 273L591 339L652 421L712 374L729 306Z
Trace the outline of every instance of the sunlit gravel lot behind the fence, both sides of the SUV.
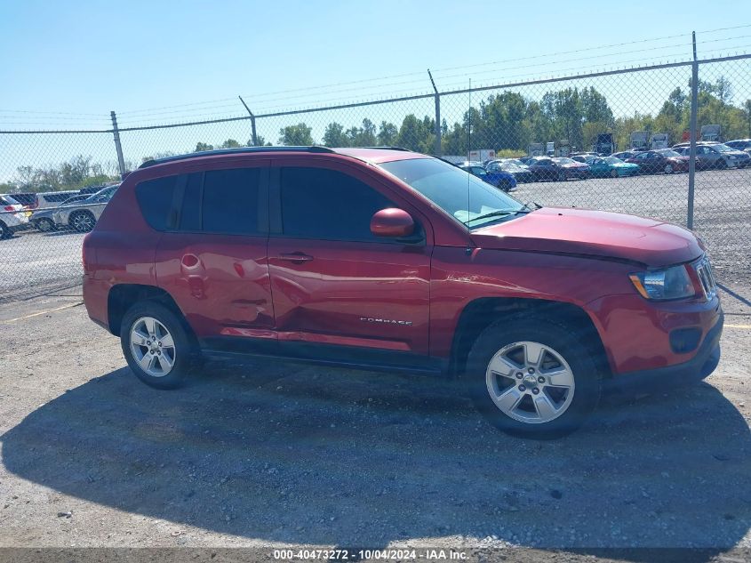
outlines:
M685 225L687 174L520 184L523 202L577 205L658 217ZM742 282L751 277L751 168L696 175L694 227L707 242L717 277ZM62 231L20 233L0 241L0 302L25 299L72 286L81 276L83 235Z

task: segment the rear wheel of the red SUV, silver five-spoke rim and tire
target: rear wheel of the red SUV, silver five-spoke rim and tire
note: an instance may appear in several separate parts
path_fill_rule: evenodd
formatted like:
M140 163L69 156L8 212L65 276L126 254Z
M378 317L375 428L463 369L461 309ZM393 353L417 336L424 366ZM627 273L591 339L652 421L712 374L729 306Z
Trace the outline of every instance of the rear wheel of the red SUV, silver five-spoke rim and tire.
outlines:
M180 387L198 356L180 318L157 302L136 303L125 313L120 344L133 374L156 389Z

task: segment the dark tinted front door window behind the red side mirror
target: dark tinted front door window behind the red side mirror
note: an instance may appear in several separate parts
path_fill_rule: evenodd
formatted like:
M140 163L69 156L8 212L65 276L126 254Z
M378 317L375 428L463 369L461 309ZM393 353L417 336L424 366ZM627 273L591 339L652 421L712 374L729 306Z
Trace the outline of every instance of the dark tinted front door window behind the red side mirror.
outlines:
M371 218L394 205L370 186L324 168L283 168L280 182L284 235L383 242Z

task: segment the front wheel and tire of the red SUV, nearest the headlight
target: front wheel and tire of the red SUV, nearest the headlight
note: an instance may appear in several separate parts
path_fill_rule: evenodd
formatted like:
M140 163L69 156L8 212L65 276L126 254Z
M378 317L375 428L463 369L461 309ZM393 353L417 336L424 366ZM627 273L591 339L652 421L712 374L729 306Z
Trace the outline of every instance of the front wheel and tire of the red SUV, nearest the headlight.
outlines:
M585 340L571 327L546 318L517 317L488 326L467 358L465 376L475 408L499 430L521 438L561 438L577 430L597 406L601 390L602 375L581 344ZM534 350L547 351L527 358ZM554 370L556 385L547 375ZM496 403L503 398L516 401L507 405L507 412Z

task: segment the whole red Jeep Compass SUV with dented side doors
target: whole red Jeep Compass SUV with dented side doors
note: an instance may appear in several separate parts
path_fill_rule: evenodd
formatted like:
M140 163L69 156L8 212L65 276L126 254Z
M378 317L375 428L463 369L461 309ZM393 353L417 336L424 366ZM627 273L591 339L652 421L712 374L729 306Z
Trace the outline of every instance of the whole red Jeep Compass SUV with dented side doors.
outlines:
M154 387L238 354L449 375L538 438L603 390L706 377L723 326L691 232L532 209L403 149L149 161L85 238L84 300Z

